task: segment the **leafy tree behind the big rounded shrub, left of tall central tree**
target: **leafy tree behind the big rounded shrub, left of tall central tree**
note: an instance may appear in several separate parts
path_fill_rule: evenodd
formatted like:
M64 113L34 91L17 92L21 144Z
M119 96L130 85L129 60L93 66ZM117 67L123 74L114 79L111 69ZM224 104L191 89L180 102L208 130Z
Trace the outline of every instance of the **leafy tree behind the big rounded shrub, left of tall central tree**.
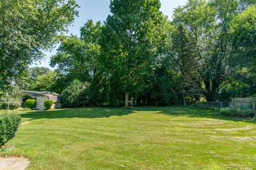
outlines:
M98 58L101 54L99 39L102 23L88 20L81 28L81 37L63 36L58 53L51 57L51 66L67 79L91 82L99 69Z

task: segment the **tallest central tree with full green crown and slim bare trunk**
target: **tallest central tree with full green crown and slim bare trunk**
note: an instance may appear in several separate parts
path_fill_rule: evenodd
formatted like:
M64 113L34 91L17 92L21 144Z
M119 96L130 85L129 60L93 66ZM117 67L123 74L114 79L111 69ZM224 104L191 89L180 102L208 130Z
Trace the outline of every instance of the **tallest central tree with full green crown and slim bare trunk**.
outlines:
M143 86L143 77L154 71L159 52L164 47L167 20L159 11L159 0L114 0L111 15L102 30L101 64L109 77L125 94Z

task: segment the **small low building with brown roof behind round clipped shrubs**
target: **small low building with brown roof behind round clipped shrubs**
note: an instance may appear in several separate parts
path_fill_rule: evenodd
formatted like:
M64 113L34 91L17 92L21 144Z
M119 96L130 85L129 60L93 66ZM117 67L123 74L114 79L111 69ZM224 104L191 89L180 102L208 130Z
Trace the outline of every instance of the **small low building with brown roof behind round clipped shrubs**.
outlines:
M36 99L36 109L38 111L44 111L45 100L52 100L53 105L51 108L61 108L61 97L55 92L50 91L23 91L23 95L30 96L31 98Z

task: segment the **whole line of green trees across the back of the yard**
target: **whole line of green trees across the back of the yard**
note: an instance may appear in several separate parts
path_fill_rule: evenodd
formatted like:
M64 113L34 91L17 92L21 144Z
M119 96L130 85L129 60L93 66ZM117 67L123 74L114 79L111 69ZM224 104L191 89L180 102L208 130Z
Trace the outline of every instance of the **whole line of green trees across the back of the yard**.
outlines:
M33 0L1 2L2 16L17 3L34 10L0 19L5 90L15 84L55 91L68 107L127 107L131 97L137 105L187 105L256 94L254 0L189 0L171 20L159 0L114 0L106 21L88 20L79 37L61 33L78 15L75 1L36 1L35 8ZM54 71L28 69L56 42Z

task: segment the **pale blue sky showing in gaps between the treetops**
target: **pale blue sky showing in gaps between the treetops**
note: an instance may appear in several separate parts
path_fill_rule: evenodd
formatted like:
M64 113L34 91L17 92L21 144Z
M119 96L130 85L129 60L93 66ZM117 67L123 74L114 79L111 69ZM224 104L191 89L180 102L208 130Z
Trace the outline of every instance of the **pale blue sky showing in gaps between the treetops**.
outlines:
M92 19L95 21L105 21L109 12L109 4L110 0L77 0L76 1L81 7L78 9L79 16L75 19L73 25L71 25L68 30L68 35L73 33L74 35L79 36L79 29L83 26L83 24ZM169 16L171 19L173 9L178 7L179 5L185 5L187 0L161 0L161 11ZM53 49L52 52L45 52L46 58L41 61L37 62L37 64L31 65L34 66L44 66L49 67L50 57L56 53L56 50Z

